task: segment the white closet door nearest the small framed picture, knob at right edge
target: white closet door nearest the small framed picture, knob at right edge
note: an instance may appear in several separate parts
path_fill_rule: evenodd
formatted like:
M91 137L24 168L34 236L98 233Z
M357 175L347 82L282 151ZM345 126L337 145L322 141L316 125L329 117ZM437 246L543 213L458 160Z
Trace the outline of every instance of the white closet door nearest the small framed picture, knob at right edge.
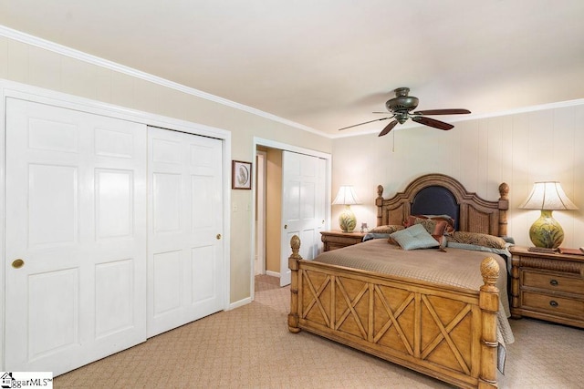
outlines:
M222 141L148 129L148 336L223 309Z

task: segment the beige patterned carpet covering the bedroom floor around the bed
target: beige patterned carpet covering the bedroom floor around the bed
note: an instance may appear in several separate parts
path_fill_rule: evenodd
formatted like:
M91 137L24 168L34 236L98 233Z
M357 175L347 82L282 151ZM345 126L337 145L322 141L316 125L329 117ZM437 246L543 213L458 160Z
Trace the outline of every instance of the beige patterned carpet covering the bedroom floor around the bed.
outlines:
M255 302L58 376L56 388L447 388L309 333L288 333L288 288L255 278ZM503 388L584 387L584 330L512 321ZM306 351L310 350L309 356Z

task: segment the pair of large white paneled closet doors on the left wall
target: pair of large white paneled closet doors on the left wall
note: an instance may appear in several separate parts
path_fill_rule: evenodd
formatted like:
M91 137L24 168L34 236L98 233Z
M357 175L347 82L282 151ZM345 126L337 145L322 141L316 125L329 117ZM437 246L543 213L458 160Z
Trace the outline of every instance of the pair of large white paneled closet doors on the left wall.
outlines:
M6 371L62 374L223 308L221 140L5 101Z

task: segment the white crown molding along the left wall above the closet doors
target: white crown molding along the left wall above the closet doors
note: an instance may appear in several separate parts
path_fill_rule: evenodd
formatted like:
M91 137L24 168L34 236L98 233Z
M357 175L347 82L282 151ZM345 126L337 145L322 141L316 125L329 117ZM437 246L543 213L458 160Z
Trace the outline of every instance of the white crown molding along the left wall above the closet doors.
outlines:
M78 59L79 61L87 62L91 65L96 65L98 67L105 67L105 68L108 68L110 70L125 74L125 75L130 76L130 77L140 78L144 81L149 81L153 84L158 84L162 87L169 87L171 89L178 90L178 91L183 92L183 93L188 94L188 95L192 95L195 97L201 97L201 98L204 98L205 100L209 100L209 101L212 101L214 103L224 105L226 107L232 107L235 109L239 109L239 110L245 111L247 113L250 113L252 115L262 117L262 118L267 118L269 120L273 120L273 121L285 124L285 125L293 127L293 128L302 129L304 131L308 131L308 132L311 132L313 134L317 134L321 137L330 138L326 133L324 133L322 131L318 131L317 129L314 129L314 128L309 128L308 126L304 126L304 125L299 124L295 121L288 120L286 118L280 118L276 115L267 113L267 112L262 111L260 109L256 109L254 107L248 107L248 106L245 106L244 104L236 103L235 101L228 100L228 99L223 98L223 97L218 97L218 96L212 95L210 93L203 92L202 90L195 89L193 87L186 87L183 84L176 83L176 82L168 80L166 78L154 76L154 75L151 75L150 73L142 72L142 71L134 69L132 67L126 67L124 65L120 65L116 62L101 58L99 56L92 56L90 54L76 50L74 48L59 45L55 42L51 42L51 41L48 41L46 39L39 38L37 36L31 36L29 34L21 32L21 31L17 31L13 28L9 28L9 27L0 25L0 36L5 36L7 38L14 39L16 41L25 43L27 45L36 46L36 47L39 47L39 48L42 48L45 50L49 50L49 51L52 51L54 53L60 54L62 56L69 56L71 58Z

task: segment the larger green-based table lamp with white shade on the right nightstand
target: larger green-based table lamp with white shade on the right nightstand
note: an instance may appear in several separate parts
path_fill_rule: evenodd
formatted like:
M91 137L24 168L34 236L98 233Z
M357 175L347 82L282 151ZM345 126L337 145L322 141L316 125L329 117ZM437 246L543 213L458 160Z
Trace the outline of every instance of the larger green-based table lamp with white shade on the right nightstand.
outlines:
M537 248L558 249L564 241L564 230L551 213L553 210L578 210L557 181L536 182L527 200L519 206L524 210L541 210L541 216L529 229L529 239Z

